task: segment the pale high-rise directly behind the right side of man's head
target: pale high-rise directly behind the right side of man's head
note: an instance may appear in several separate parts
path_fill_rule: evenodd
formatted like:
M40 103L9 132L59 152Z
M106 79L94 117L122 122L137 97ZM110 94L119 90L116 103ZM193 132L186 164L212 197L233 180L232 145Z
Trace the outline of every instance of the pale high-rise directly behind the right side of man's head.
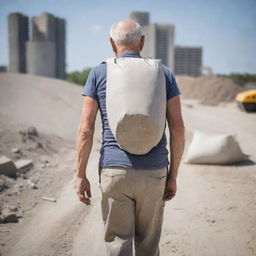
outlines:
M147 17L147 22L144 22ZM145 44L141 55L161 59L163 64L174 69L174 26L170 24L150 24L149 13L133 12L130 18L143 24Z

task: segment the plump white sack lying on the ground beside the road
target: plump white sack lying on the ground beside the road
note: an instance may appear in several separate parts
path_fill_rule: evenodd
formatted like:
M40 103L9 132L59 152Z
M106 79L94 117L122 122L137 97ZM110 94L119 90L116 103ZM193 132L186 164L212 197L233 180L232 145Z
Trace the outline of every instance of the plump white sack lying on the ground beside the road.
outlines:
M244 160L248 160L248 155L242 152L235 135L195 131L185 163L232 164Z

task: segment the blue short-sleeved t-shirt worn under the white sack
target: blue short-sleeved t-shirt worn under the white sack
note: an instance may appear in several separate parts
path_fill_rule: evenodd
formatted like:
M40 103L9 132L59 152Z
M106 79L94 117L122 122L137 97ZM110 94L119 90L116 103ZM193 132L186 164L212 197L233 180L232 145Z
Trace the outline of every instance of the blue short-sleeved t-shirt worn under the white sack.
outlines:
M135 52L125 52L120 57L134 57L142 58ZM175 77L170 69L164 66L166 76L166 92L167 100L174 96L181 94ZM165 130L159 143L145 155L131 154L121 149L108 124L106 113L106 77L107 77L107 64L101 64L93 67L89 73L87 82L83 88L82 95L90 96L96 99L99 103L99 109L102 121L102 146L100 150L99 167L126 167L134 169L159 169L168 167L168 149ZM166 123L165 123L166 128Z

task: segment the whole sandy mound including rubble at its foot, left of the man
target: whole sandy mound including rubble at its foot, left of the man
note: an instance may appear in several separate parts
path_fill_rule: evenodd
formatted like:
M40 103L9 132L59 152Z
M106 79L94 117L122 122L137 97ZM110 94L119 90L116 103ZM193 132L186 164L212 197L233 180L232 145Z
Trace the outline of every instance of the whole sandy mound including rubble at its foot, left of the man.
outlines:
M0 223L9 224L41 196L54 196L74 171L65 165L74 152L83 97L78 85L29 74L1 73L0 84Z

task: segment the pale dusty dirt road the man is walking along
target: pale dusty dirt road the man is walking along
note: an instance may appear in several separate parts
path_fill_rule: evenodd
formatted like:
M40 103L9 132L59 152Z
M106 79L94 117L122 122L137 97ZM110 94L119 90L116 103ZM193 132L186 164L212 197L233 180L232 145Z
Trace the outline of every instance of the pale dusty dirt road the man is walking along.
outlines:
M79 89L74 91L74 95L78 94L77 102L73 99L74 105L81 103L79 93ZM70 113L75 114L69 126L72 131L78 125L74 120L78 121L80 115L76 108L72 107ZM161 255L256 255L256 165L253 163L256 162L256 115L240 112L234 104L204 106L186 100L183 100L183 115L187 141L196 129L236 133L243 151L251 155L252 163L236 166L181 164L177 195L165 208ZM61 124L58 127L61 129ZM62 133L66 136L68 132ZM69 131L67 136L70 134L74 132ZM51 171L54 182L49 185L49 192L57 202L38 200L19 223L1 225L2 255L106 255L97 174L100 145L98 116L88 164L92 205L82 204L75 193L75 148L61 149L54 156L58 165Z

